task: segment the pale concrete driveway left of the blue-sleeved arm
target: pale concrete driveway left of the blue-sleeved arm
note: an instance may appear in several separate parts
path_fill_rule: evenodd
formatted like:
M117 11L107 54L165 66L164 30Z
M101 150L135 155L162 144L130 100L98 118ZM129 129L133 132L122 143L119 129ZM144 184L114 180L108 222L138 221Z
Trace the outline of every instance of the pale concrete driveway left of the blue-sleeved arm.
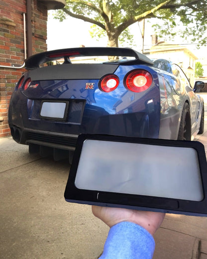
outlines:
M91 206L64 200L69 170L0 139L0 259L98 258L108 228Z

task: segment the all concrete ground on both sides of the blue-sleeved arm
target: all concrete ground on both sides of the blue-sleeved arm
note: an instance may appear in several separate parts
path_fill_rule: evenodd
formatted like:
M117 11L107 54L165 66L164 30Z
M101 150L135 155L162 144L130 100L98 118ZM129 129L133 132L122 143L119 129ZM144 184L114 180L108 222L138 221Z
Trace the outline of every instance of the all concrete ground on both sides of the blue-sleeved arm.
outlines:
M206 127L207 130L207 127ZM207 147L207 131L199 140ZM91 206L70 204L70 165L0 139L0 259L97 259L108 227ZM154 259L207 259L207 218L166 215Z

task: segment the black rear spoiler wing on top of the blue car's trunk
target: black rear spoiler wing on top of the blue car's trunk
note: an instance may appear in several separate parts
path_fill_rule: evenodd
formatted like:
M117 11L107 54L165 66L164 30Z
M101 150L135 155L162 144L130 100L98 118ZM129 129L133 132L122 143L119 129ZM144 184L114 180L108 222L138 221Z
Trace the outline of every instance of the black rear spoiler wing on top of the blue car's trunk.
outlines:
M153 65L152 61L145 55L131 49L131 48L111 48L111 47L83 47L83 48L66 48L50 50L41 52L28 57L25 60L25 68L35 69L40 64L50 62L56 59L64 58L67 63L69 57L79 56L122 56L122 57L134 57L133 60L122 61L121 64L147 64ZM117 61L118 62L118 61ZM117 64L117 63L116 63Z

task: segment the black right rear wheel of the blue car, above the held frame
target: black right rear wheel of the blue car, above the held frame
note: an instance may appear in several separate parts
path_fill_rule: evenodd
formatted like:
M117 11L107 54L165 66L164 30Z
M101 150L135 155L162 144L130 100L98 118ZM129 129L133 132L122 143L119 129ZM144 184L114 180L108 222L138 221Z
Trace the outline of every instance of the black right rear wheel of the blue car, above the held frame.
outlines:
M189 104L185 103L181 115L178 140L191 140L191 113Z

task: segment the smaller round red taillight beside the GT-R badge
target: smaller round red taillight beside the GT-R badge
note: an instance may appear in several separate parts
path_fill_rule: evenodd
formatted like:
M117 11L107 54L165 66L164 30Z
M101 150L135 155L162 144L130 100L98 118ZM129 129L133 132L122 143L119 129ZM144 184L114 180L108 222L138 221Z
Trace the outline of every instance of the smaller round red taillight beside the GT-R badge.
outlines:
M110 74L104 76L100 82L99 87L103 92L109 93L117 88L119 84L119 78L116 75Z

